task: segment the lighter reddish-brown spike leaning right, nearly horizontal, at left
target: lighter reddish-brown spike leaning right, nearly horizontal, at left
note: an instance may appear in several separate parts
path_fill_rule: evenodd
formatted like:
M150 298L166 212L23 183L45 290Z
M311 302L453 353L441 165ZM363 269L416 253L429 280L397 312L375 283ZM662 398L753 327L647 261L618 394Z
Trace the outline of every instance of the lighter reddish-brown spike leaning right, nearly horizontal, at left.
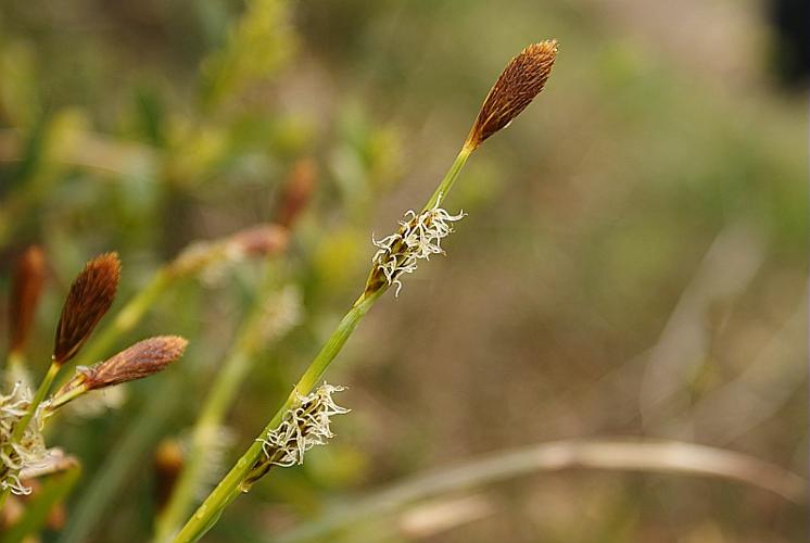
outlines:
M149 338L90 368L79 368L87 390L149 377L182 356L188 341L178 336Z

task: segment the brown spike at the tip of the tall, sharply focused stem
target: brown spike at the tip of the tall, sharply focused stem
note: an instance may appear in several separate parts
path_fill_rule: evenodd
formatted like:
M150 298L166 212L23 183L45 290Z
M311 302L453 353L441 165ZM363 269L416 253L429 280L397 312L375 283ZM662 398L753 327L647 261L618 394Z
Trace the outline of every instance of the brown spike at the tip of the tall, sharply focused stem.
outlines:
M509 61L486 94L465 146L476 149L526 110L543 90L556 56L557 40L549 39L527 47Z

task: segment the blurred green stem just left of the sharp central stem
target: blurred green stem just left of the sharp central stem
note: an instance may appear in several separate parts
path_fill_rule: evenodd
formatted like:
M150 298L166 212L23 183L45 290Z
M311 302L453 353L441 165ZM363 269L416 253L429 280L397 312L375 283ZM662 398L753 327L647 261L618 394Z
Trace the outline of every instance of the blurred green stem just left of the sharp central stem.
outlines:
M193 505L194 491L205 469L205 450L211 446L212 434L217 431L233 403L239 387L253 367L253 357L261 346L262 328L265 323L265 302L274 281L271 275L257 292L256 303L239 332L237 344L228 354L222 370L214 380L211 392L194 424L191 447L186 466L172 492L172 497L155 525L155 542L170 541L182 526L182 520Z

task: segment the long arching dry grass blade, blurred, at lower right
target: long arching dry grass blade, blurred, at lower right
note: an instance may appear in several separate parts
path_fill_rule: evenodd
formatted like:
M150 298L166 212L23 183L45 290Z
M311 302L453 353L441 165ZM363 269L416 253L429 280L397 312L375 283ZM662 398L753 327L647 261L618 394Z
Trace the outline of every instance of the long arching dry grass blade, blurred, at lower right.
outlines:
M274 536L273 541L326 541L325 538L334 530L395 514L428 497L467 491L535 471L575 468L717 477L758 487L799 505L806 504L808 498L803 477L733 451L680 441L556 441L493 453L409 478L336 507L300 528Z

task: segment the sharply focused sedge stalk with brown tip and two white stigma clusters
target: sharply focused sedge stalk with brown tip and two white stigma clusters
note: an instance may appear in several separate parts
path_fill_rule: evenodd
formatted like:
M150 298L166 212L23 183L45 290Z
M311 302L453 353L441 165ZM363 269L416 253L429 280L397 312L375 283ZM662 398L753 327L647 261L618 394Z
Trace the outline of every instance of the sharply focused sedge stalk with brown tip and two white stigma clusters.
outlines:
M543 90L556 53L556 40L541 41L523 49L506 65L433 194L421 211L405 214L396 232L374 241L378 251L360 295L264 430L188 519L175 542L199 540L240 493L248 492L274 466L301 464L309 447L331 438L330 417L347 412L332 400L332 394L342 388L324 383L316 389L316 386L377 300L391 287L398 293L403 276L414 273L420 260L444 253L442 239L453 231L453 223L465 216L442 207L446 195L472 152L505 128Z

